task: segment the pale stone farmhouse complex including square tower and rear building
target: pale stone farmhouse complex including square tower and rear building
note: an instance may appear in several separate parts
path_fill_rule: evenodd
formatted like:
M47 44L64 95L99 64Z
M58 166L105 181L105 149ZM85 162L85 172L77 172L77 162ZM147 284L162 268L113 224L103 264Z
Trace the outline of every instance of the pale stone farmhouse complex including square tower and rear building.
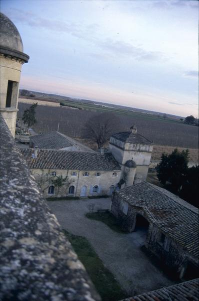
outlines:
M29 146L35 149L22 149L21 152L33 174L37 175L37 182L39 174L42 177L67 176L71 185L68 187L67 181L64 188L59 190L58 195L61 197L111 195L115 189L142 182L146 178L152 152L151 141L137 134L135 126L131 127L130 132L113 134L110 137L109 150L105 154L102 150L100 153L94 152L57 131L32 136ZM40 149L39 152L36 148ZM58 150L66 152L59 153ZM35 152L38 152L37 158L33 158ZM84 173L89 176L83 175ZM44 195L54 194L57 195L57 191L49 183Z

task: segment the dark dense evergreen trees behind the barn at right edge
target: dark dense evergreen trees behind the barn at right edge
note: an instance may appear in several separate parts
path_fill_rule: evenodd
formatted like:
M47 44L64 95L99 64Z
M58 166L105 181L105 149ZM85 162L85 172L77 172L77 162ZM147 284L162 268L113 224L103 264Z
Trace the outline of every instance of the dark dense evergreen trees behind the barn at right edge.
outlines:
M156 167L161 184L183 200L198 207L199 166L188 168L188 149L179 152L177 148L170 155L162 154Z

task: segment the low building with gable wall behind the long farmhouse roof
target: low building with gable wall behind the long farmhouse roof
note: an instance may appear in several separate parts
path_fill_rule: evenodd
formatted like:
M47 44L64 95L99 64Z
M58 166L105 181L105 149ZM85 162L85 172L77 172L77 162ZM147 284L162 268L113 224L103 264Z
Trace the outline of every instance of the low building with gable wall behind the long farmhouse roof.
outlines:
M38 147L43 149L65 149L79 152L93 152L91 148L58 131L52 131L45 134L31 136L29 147Z

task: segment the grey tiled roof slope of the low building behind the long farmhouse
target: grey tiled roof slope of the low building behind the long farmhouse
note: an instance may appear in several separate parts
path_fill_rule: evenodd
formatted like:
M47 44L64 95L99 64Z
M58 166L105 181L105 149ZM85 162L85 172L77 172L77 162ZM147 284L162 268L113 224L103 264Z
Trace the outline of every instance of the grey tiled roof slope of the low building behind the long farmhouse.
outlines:
M72 146L72 143L57 131L52 131L46 134L40 134L30 137L31 142L38 148L59 149Z

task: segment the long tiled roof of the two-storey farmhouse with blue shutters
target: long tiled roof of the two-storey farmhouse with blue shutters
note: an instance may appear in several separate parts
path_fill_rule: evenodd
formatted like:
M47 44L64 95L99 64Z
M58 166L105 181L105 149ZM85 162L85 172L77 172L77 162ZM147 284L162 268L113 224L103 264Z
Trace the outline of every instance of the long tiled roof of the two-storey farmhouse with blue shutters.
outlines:
M30 169L119 171L120 166L110 154L96 152L71 152L57 149L38 149L37 158L32 158L32 148L21 148L21 153Z

